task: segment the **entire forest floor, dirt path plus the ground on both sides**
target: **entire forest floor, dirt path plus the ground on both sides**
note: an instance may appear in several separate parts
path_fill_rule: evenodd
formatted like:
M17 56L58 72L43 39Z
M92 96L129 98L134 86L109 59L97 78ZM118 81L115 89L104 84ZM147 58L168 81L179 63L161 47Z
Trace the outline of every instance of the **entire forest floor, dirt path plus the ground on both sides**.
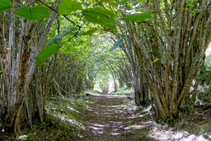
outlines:
M211 140L211 107L180 115L174 126L156 123L150 106L137 107L131 95L89 94L78 99L49 98L46 122L0 140L35 141L206 141Z

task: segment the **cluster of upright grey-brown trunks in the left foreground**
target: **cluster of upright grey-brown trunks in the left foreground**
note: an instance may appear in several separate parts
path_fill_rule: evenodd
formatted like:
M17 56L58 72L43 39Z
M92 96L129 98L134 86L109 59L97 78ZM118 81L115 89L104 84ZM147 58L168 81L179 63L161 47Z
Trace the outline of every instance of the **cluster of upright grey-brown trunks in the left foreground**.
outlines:
M61 0L57 1L56 7L60 3ZM13 5L16 7L16 3L13 0ZM28 94L29 84L31 82L32 75L34 73L36 64L35 64L35 57L38 55L40 50L43 48L45 39L50 31L51 26L53 25L54 20L58 16L58 13L53 12L51 17L48 20L47 25L45 26L42 36L38 40L36 37L39 35L35 35L38 33L35 31L36 26L38 25L35 21L25 20L23 18L18 18L20 21L20 25L17 25L17 29L15 29L15 8L12 8L10 15L5 15L6 23L10 24L9 30L9 40L4 39L4 41L9 41L9 50L8 51L8 58L4 56L4 62L2 62L2 66L6 72L3 75L2 80L4 81L4 87L2 89L6 89L5 95L7 95L7 102L4 101L4 104L7 105L4 107L6 113L1 115L1 120L4 121L4 129L6 131L12 131L15 135L19 132L21 117L23 116L23 103L25 101L25 110L27 112L27 119L29 125L32 126L32 119L31 119L31 103L30 97L31 95ZM6 13L6 12L5 12ZM6 16L10 16L11 19L7 20ZM18 36L15 36L16 31L20 29L21 31L17 32ZM6 32L5 27L3 27ZM6 33L3 33L4 35ZM4 36L4 38L7 38ZM33 40L32 40L33 39ZM18 42L17 42L18 40ZM6 44L5 44L6 45ZM11 49L13 48L13 49ZM17 49L17 51L15 51ZM6 54L6 52L4 52ZM1 85L3 86L3 85ZM3 93L2 93L3 94ZM4 95L1 95L1 99L4 99ZM43 103L43 101L39 101Z

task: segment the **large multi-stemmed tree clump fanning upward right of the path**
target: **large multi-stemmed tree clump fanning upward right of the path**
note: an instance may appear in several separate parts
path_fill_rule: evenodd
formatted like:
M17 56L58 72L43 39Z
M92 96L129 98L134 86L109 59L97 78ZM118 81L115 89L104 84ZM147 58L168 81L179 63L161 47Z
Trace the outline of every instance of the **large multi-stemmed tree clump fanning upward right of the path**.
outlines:
M136 95L143 101L150 89L155 118L172 120L178 109L195 100L204 53L211 39L211 3L133 0L131 4L122 5L125 10L121 10L121 16L153 13L150 20L128 20L118 26L117 35L125 38L122 49L130 64L136 65L134 70L139 69L136 75L140 77L136 78L141 82L135 79L134 86L140 85L141 94Z

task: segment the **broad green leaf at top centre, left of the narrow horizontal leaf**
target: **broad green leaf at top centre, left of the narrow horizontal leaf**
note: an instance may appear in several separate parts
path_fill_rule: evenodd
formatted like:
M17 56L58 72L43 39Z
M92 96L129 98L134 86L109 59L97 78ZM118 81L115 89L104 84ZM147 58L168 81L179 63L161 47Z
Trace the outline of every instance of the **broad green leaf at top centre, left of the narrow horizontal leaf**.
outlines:
M101 7L94 7L82 11L85 19L92 23L97 23L110 29L115 28L115 14L110 10Z

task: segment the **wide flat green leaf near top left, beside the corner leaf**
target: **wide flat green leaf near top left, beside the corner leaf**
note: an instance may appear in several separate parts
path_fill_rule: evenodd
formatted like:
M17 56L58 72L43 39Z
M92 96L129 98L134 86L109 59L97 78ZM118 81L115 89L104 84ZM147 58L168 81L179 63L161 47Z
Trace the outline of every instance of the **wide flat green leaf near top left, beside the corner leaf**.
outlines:
M35 6L32 8L25 6L19 8L15 14L29 20L43 20L48 16L48 8L45 6Z

